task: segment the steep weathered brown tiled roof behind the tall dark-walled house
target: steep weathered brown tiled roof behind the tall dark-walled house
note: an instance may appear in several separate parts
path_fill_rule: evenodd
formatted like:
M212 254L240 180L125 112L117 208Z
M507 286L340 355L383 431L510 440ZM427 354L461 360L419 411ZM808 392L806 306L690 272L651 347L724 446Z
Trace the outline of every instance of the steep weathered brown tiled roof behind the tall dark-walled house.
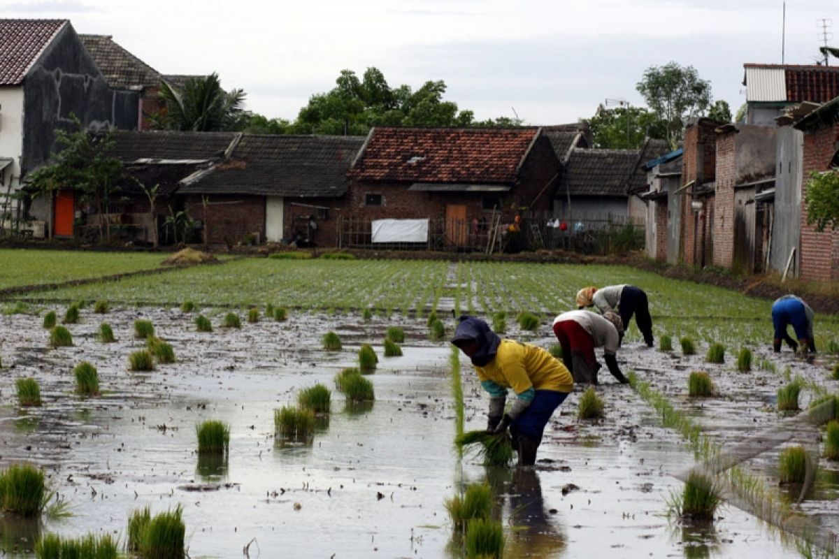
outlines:
M79 39L112 88L128 90L158 85L157 70L116 44L111 35L80 34Z

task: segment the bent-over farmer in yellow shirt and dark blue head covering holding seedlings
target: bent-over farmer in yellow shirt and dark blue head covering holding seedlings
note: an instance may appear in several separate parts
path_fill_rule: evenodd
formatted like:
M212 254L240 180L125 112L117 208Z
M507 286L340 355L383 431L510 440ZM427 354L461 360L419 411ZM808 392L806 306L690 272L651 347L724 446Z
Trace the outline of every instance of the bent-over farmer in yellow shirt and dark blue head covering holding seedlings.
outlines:
M545 425L574 388L571 373L545 349L501 339L480 318L458 320L451 343L472 359L481 386L489 392L487 431L502 434L509 427L519 466L532 466ZM516 400L505 413L508 389Z

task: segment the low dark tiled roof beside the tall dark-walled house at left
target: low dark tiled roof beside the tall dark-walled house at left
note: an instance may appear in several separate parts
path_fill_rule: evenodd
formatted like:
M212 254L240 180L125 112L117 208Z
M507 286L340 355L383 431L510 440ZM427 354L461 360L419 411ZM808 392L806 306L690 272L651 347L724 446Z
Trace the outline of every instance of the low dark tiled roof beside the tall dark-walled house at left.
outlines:
M112 157L129 163L138 159L220 159L237 132L114 133Z

